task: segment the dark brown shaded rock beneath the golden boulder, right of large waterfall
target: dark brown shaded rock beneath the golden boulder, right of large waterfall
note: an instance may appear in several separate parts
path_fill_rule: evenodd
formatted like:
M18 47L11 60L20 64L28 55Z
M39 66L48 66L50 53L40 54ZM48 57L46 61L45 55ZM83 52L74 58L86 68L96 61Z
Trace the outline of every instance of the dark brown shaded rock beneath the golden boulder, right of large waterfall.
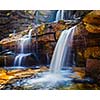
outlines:
M83 22L77 25L73 40L76 66L86 66L88 58L100 59L99 41L99 34L87 31Z

